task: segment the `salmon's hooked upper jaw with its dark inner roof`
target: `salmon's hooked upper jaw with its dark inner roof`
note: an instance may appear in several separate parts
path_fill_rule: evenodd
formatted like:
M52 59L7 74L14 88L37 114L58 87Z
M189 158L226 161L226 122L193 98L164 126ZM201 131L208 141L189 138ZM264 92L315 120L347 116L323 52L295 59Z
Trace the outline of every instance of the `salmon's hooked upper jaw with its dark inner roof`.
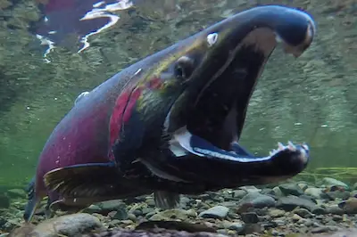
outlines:
M280 12L274 11L283 11L283 13L279 15ZM200 91L195 94L194 99L190 99L189 104L187 102L187 124L181 123L174 130L187 126L187 130L191 133L228 150L230 143L239 139L253 89L276 45L281 43L284 51L295 57L299 57L311 45L316 27L306 13L286 10L278 6L256 8L251 12L251 15L246 12L237 14L229 20L206 29L201 34L200 37L207 37L207 40L215 34L218 40L207 49L211 51L208 55L212 58L203 61L202 65L205 66L195 71L194 80L200 81L197 84L200 85L198 86ZM284 15L286 13L290 16ZM243 15L252 22L245 20ZM270 20L270 16L273 20ZM290 17L289 20L293 22L281 21L281 17ZM234 23L237 23L237 26ZM290 35L294 35L294 31L299 31L299 35L290 38ZM299 40L296 41L296 38ZM213 99L214 92L219 87L225 88L227 92L231 87L236 87L234 98L228 99L228 95L224 94L227 102L221 102L221 104L220 100L223 97ZM212 102L207 102L210 97ZM228 110L222 111L224 107ZM233 107L236 108L232 109ZM233 110L236 114L230 116ZM217 118L219 111L221 112L220 118ZM228 119L232 117L236 117L233 119L236 124L233 124L232 119ZM213 120L216 124L210 125ZM222 134L220 130L223 127L230 127L230 130L235 131L232 134L232 131L227 129L227 133Z

